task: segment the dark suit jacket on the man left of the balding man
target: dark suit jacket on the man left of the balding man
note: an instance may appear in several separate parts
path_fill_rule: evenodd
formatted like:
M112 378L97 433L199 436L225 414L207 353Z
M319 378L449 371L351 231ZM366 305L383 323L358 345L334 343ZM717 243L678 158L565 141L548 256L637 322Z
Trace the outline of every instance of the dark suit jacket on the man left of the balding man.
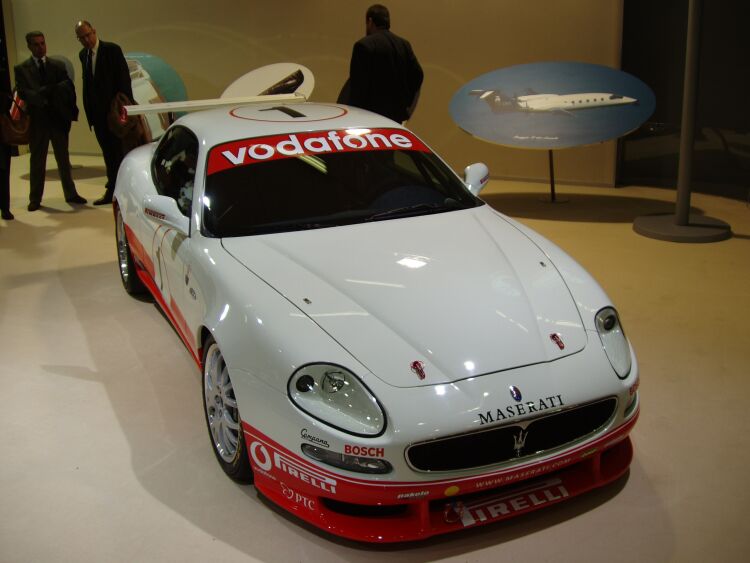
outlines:
M45 77L36 61L29 57L14 68L18 95L26 102L32 127L55 126L70 130L70 122L78 119L76 91L65 65L47 57Z

